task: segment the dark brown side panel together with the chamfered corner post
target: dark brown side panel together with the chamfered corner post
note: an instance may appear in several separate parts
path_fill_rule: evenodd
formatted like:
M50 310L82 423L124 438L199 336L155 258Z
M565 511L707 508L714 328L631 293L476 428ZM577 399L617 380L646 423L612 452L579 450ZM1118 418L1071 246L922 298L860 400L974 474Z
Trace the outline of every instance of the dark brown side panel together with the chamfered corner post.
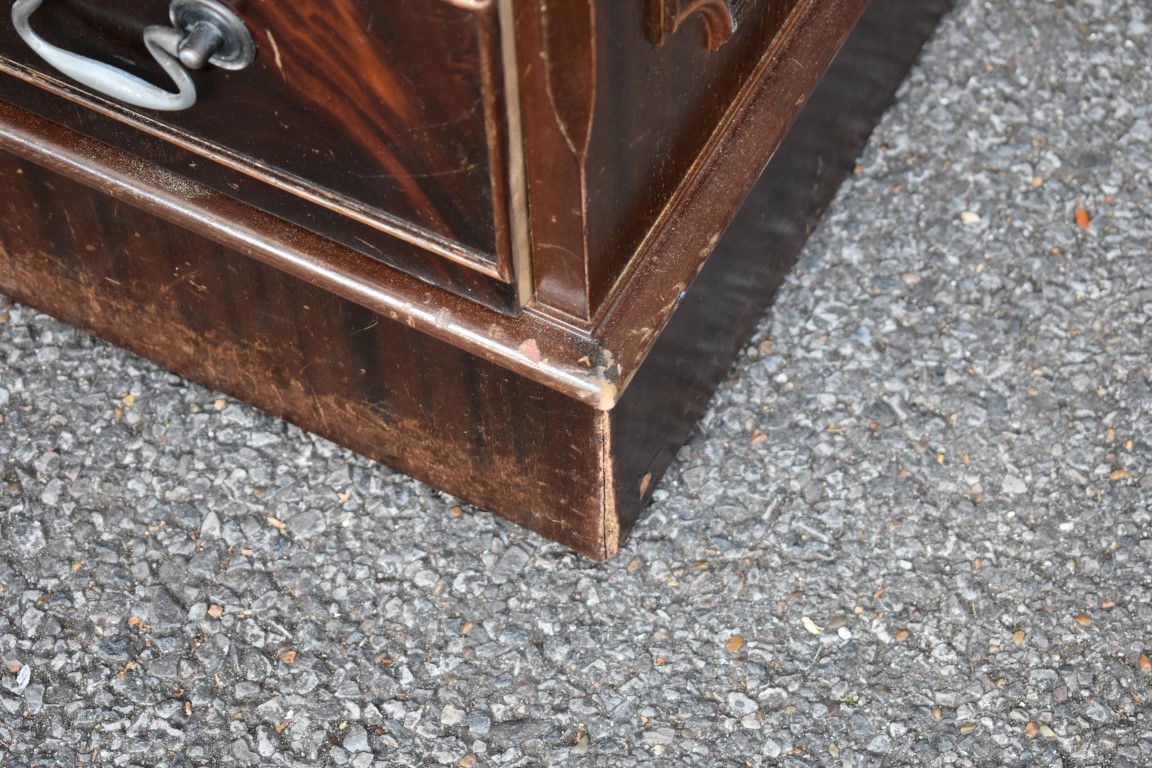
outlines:
M839 15L855 20L865 0L831 1L842 6ZM532 252L543 304L574 318L594 314L789 20L809 2L748 0L738 13L723 3L738 24L715 50L700 3L676 3L700 10L661 45L650 41L650 26L653 7L662 8L664 0L521 6L522 45L543 51L541 62L523 66ZM806 61L797 79L810 88L836 43L824 61ZM781 106L782 114L794 109Z

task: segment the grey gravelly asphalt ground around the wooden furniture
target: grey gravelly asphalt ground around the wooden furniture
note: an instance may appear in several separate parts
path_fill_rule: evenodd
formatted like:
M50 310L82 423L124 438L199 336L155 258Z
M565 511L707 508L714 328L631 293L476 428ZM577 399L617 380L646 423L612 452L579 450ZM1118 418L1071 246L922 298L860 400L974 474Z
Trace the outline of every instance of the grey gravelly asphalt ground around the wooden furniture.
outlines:
M960 2L606 564L0 309L0 765L1152 765L1146 7Z

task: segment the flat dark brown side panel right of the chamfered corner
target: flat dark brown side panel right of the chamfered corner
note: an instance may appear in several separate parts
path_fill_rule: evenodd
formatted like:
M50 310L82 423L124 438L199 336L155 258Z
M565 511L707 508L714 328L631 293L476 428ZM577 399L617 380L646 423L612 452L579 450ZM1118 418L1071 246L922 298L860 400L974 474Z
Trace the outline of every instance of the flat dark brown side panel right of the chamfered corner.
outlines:
M866 0L750 0L732 37L707 45L702 15L690 16L662 46L645 46L643 3L599 0L602 86L589 146L589 302L593 311L632 258L653 222L699 161L725 115L773 51L796 12L839 5L855 18ZM687 3L685 3L687 5ZM828 35L842 36L839 30ZM827 66L812 56L795 77L812 88ZM814 52L813 52L814 53ZM791 114L796 105L780 105ZM767 158L765 158L766 160ZM763 162L763 161L761 161ZM611 170L611 173L609 173Z

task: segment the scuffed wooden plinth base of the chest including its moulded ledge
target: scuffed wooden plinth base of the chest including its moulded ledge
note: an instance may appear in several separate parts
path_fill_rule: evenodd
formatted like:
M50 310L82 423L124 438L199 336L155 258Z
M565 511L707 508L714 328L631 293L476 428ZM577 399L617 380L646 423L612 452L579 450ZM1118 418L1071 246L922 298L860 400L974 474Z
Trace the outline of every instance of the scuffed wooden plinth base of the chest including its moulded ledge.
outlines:
M809 7L588 328L494 312L2 105L0 291L605 557L945 5L874 0L855 28ZM833 54L818 86L795 76Z

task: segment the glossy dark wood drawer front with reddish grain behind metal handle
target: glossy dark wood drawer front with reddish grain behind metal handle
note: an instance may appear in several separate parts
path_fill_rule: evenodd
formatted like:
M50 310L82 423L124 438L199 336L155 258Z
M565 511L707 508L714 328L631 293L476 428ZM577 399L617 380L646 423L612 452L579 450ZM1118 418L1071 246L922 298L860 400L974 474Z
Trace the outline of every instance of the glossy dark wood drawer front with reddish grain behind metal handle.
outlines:
M43 61L0 20L0 98L498 309L515 309L498 3L233 0L245 69L197 102L132 107ZM175 90L143 44L167 0L44 0L51 45ZM82 105L85 108L77 108Z

